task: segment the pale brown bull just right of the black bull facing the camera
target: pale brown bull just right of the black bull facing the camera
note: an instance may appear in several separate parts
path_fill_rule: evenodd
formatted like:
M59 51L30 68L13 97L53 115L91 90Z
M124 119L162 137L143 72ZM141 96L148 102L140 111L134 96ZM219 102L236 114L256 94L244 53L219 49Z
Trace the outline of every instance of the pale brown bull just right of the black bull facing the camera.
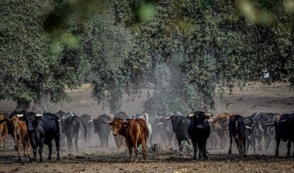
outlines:
M221 113L212 121L209 121L212 131L214 131L219 139L222 140L220 145L222 148L226 147L227 145L227 133L224 131L224 128L228 127L230 116L230 113Z

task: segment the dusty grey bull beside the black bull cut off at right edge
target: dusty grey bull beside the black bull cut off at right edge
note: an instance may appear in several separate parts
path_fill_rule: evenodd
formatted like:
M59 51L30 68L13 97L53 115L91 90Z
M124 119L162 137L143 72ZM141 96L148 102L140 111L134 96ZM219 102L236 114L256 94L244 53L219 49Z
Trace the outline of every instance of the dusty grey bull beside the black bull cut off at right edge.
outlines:
M252 125L254 138L258 144L258 150L262 151L262 140L264 140L264 148L267 151L271 140L274 138L274 128L273 126L266 125L267 123L272 123L280 118L278 113L254 113L251 115L254 120Z

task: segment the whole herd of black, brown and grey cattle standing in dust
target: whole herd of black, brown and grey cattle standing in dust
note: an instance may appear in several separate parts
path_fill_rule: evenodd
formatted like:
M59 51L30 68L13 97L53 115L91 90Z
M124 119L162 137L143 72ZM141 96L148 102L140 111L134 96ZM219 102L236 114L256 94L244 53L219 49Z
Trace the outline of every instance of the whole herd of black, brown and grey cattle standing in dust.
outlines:
M254 113L251 116L231 115L221 113L215 118L204 111L196 111L184 116L178 111L163 116L148 117L147 113L128 116L124 112L102 114L92 118L87 114L81 116L75 113L33 113L28 111L13 111L0 115L0 147L6 147L8 134L15 142L18 161L21 152L31 161L37 160L37 149L40 162L43 162L43 145L48 145L48 160L51 160L55 141L57 160L60 160L60 145L67 145L67 150L78 148L78 140L82 136L84 142L91 140L92 132L99 136L101 147L109 147L109 135L112 131L118 150L129 149L129 160L132 160L134 148L137 160L139 145L143 160L146 160L147 140L150 145L153 140L172 146L175 141L179 150L183 150L183 142L192 145L193 160L208 159L207 145L214 148L225 148L229 139L229 154L232 154L232 143L236 143L239 155L246 155L249 147L254 154L268 150L273 138L276 138L276 156L281 140L288 141L287 156L291 157L291 143L294 143L294 113ZM151 123L151 119L153 123ZM175 139L175 140L174 140ZM234 140L234 141L233 141ZM126 145L125 145L126 144ZM33 157L31 157L31 149ZM198 157L197 157L198 152ZM292 154L294 157L294 152Z

